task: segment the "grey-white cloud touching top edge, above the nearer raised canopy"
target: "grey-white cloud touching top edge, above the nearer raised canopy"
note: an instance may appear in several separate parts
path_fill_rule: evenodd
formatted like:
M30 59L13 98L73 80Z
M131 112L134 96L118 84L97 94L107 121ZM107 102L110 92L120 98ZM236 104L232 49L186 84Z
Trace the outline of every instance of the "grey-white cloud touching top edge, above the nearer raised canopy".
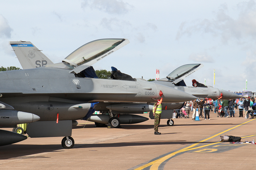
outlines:
M108 14L125 14L133 8L132 5L117 0L84 0L82 8L86 7L98 9Z

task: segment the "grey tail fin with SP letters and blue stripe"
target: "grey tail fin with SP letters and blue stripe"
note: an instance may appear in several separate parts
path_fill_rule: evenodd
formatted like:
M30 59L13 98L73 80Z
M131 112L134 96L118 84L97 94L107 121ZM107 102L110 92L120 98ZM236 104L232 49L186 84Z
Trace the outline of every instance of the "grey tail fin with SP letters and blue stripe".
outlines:
M38 68L53 64L41 50L30 41L9 41L23 69Z

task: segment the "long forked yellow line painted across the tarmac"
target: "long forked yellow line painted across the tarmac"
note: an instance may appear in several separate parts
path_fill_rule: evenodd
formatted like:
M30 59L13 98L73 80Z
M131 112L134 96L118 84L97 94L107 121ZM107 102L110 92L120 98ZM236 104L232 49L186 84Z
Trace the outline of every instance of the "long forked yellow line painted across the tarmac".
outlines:
M140 166L140 167L136 168L135 170L141 170L141 169L143 169L143 168L145 168L145 167L148 167L148 166L151 166L151 165L152 165L152 166L150 167L150 170L157 170L157 169L158 169L158 166L159 166L161 163L163 163L165 160L171 158L172 156L176 155L177 153L185 152L185 151L189 151L189 150L194 150L194 149L198 149L198 148L202 148L202 147L205 147L205 146L210 146L210 145L213 145L213 144L218 144L219 142L216 142L216 143L206 144L206 145L203 145L203 146L199 146L199 147L192 148L192 147L194 147L194 146L196 146L196 145L198 145L198 144L201 144L201 143L204 142L204 141L207 141L207 140L209 140L209 139L212 139L212 138L214 138L214 137L216 137L216 136L221 135L222 133L225 133L225 132L227 132L227 131L229 131L229 130L235 129L235 128L237 128L237 127L239 127L239 126L241 126L241 125L243 125L243 124L245 124L245 123L251 122L251 121L253 121L253 120L255 120L255 119L252 119L252 120L250 120L250 121L241 123L241 124L239 124L239 125L237 125L237 126L235 126L235 127L233 127L233 128L230 128L230 129L228 129L228 130L224 130L223 132L220 132L220 133L218 133L218 134L216 134L216 135L213 135L212 137L208 137L207 139L201 140L201 141L197 142L196 144L192 144L192 145L190 145L190 146L188 146L188 147L186 147L186 148L183 148L183 149L181 149L181 150L179 150L179 151L173 152L173 153L171 153L171 154L169 154L169 155L166 155L166 156L164 156L164 157L162 157L162 158L160 158L160 159L157 159L157 160L155 160L155 161L153 161L153 162L149 162L149 163L146 164L146 165Z

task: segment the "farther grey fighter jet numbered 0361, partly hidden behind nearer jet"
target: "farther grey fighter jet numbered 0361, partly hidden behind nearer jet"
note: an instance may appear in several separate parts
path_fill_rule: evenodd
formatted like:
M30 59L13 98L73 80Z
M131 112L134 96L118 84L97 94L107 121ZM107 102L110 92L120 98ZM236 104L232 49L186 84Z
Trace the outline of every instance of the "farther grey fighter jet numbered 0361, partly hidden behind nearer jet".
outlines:
M31 42L29 41L10 41L10 45L12 46L15 54L17 55L19 61L28 60L27 62L22 62L21 65L23 68L36 68L38 67L38 63L51 63L51 60L47 58L41 50L38 50ZM30 54L35 55L34 63L30 60ZM38 53L38 54L37 54ZM44 56L44 59L41 61L41 57ZM41 62L40 62L41 61ZM204 86L204 87L194 87L194 86L186 86L183 78L188 77L196 70L199 70L203 67L203 64L186 64L180 66L170 73L166 78L156 80L154 83L166 85L175 89L179 89L181 91L192 94L200 99L212 98L212 99L235 99L238 96L234 93L220 90L218 88L214 88L212 86ZM113 72L113 71L112 71ZM119 74L119 77L118 77ZM121 73L120 71L115 72L115 79L127 79L133 80L133 78L127 74ZM184 102L180 103L163 103L162 106L165 108L163 112L168 115L170 112L172 113L172 109L180 109L183 107ZM118 120L112 120L112 127L119 127L120 124L132 124L139 123L148 120L143 116L132 115L132 114L143 114L143 112L150 112L153 109L153 103L122 103L122 102L100 102L95 110L101 111L103 113L108 113L109 115L118 115ZM119 115L120 114L120 115ZM152 114L152 113L151 113ZM111 118L108 114L102 115L92 115L89 117L89 121L95 122L97 126L103 126L108 124L109 119ZM164 115L164 114L163 114ZM167 116L168 117L168 116ZM152 116L151 116L152 118ZM164 118L164 116L162 116ZM173 125L173 120L168 120L167 125Z

